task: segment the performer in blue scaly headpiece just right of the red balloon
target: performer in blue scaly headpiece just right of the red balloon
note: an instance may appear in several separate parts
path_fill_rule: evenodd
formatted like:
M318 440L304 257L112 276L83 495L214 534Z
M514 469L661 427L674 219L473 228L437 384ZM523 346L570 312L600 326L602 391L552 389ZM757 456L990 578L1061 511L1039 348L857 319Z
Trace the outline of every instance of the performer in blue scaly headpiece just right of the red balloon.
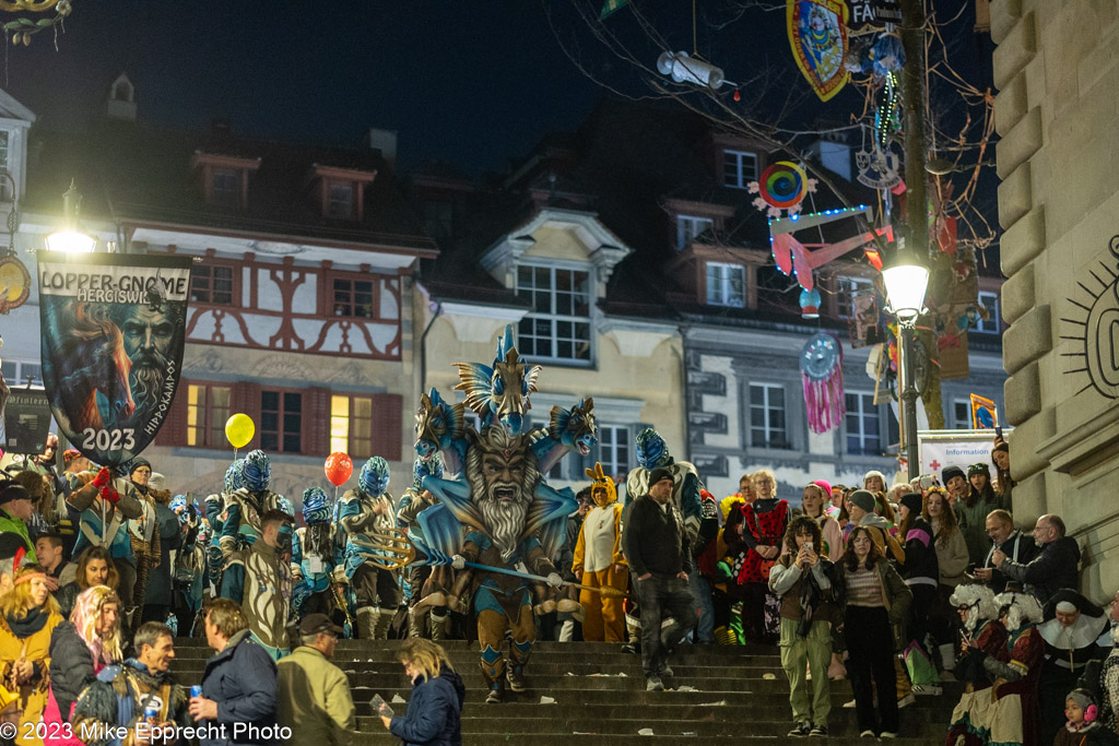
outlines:
M386 640L401 591L392 558L378 546L396 539L396 513L388 489L388 462L374 456L361 466L358 488L342 495L339 523L347 536L346 576L357 597L358 636Z

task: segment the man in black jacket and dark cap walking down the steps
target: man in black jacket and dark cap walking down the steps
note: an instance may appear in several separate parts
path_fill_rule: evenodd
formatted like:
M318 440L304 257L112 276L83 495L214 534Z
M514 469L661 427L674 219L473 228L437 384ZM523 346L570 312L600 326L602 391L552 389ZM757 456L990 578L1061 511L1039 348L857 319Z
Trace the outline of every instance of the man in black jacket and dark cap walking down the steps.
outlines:
M622 553L637 579L647 691L664 691L661 677L673 674L668 654L696 624L688 588L692 553L684 518L671 499L671 473L652 470L649 494L633 502L622 530ZM661 629L664 616L670 616L673 623Z

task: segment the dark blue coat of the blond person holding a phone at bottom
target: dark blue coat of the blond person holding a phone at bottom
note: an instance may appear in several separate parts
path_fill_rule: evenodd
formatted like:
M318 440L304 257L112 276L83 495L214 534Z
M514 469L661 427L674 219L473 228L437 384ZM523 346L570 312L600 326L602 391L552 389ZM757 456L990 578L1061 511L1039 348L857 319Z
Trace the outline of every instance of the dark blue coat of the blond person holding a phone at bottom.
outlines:
M462 679L444 665L434 679L412 682L408 709L389 721L388 731L404 746L461 746L466 697Z

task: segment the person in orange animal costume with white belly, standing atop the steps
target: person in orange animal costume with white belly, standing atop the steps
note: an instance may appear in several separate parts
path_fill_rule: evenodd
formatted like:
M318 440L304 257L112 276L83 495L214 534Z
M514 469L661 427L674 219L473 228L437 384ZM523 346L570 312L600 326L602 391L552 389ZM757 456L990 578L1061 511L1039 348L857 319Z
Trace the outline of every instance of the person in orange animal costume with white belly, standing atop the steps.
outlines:
M614 481L603 473L601 463L587 469L586 475L594 481L591 485L594 508L583 519L579 530L571 570L583 585L594 588L609 586L624 592L629 576L621 547L622 504L618 501ZM581 591L579 603L586 611L584 641L624 642L622 598Z

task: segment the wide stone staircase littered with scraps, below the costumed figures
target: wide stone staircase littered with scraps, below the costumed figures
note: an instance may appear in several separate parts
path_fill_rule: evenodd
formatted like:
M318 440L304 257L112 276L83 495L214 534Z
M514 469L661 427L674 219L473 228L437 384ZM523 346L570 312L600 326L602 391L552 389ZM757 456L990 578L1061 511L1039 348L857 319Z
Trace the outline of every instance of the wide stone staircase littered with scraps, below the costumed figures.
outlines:
M342 640L333 662L346 671L357 705L355 743L369 746L397 744L374 716L369 700L379 693L386 701L407 699L411 686L394 655L395 641ZM530 690L507 692L501 705L486 705L478 668L477 644L445 643L455 670L467 684L463 743L468 746L533 744L534 746L626 746L628 744L742 744L784 739L792 727L789 687L777 649L752 646L684 646L670 664L671 690L647 692L637 655L622 653L613 643L537 643L526 671ZM210 651L200 640L176 640L172 672L185 684L201 681ZM943 744L952 707L961 688L948 684L940 697L919 697L901 711L899 744ZM542 697L554 703L540 703ZM847 681L831 684L831 716L827 739L806 744L866 744L858 738ZM393 703L403 715L406 705ZM652 735L639 731L651 729Z

